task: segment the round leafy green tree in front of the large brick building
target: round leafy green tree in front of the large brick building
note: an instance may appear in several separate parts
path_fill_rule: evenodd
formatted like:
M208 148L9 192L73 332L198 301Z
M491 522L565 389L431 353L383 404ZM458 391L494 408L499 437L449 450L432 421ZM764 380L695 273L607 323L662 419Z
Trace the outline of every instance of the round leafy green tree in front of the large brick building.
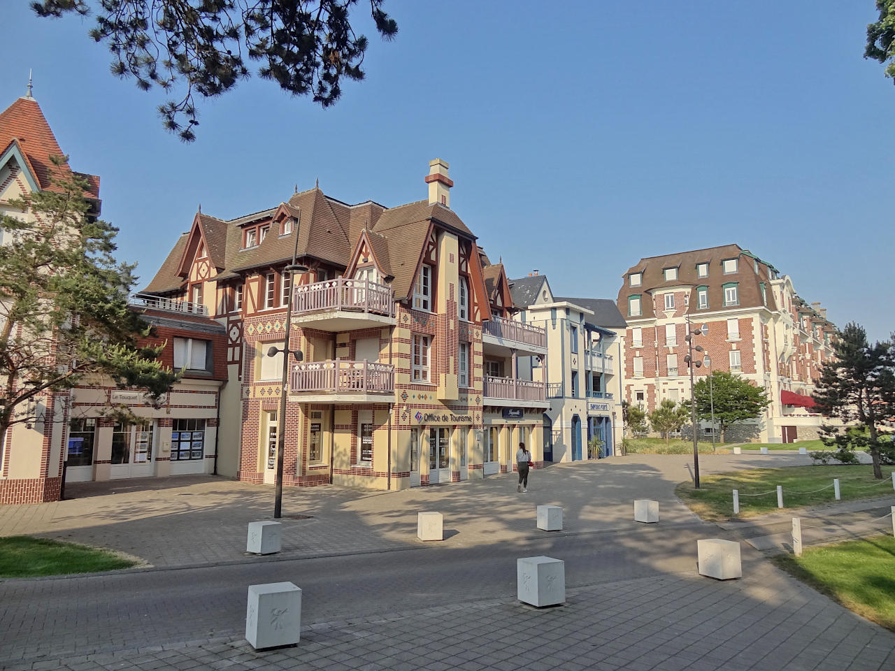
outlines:
M693 396L696 417L700 420L712 419L714 405L714 418L720 427L722 443L727 429L738 422L756 419L771 403L763 386L754 386L746 378L726 370L714 370L712 375L699 380L693 386ZM684 404L690 407L689 401Z

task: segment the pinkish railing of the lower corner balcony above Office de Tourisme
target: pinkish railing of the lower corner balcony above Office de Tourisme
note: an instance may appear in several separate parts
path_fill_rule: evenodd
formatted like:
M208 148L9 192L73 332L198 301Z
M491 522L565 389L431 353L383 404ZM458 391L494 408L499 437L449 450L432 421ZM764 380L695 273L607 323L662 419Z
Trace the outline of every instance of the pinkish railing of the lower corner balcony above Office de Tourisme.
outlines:
M295 392L321 394L394 394L395 367L375 361L307 361L292 367Z

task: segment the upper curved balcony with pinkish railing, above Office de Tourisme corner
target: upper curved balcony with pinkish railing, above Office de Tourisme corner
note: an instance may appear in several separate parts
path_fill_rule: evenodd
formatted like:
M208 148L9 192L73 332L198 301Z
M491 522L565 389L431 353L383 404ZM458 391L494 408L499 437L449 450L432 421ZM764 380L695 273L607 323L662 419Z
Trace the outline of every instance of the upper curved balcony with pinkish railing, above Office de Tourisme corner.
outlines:
M395 325L395 292L387 285L345 277L296 286L293 321L323 331Z

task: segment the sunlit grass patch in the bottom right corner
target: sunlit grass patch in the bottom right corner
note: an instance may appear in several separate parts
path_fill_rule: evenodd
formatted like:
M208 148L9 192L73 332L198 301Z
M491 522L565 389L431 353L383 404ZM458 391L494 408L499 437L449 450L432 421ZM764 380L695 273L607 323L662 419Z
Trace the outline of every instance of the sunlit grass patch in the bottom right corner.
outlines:
M895 538L849 540L774 561L858 615L895 631Z

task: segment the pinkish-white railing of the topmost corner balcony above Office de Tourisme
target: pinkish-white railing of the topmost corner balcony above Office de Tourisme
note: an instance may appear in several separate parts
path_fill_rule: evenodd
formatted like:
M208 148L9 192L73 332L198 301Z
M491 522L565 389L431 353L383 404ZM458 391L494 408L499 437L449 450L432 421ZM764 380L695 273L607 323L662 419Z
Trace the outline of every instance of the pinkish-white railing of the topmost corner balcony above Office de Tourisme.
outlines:
M296 286L293 310L296 315L308 312L351 310L395 316L395 292L390 286L369 280L336 279Z

